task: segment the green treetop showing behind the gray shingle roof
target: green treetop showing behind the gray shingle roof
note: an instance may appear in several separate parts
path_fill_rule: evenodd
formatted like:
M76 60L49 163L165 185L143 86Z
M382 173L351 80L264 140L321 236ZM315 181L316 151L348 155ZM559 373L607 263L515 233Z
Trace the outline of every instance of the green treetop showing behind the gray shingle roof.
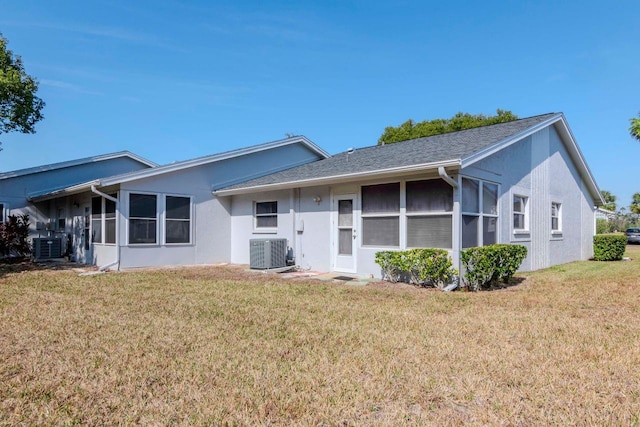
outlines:
M450 119L424 120L416 123L409 119L397 127L388 126L378 139L378 145L406 141L407 139L422 138L447 132L471 129L496 123L518 120L518 116L507 110L496 110L495 116L484 114L457 113Z

